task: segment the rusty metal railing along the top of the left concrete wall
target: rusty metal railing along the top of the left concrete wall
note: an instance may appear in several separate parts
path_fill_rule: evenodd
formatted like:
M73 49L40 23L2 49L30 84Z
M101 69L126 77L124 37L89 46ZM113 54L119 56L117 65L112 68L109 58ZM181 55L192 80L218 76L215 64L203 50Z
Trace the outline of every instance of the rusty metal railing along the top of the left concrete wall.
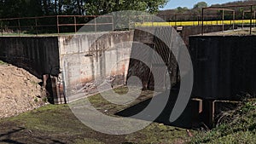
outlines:
M51 15L24 18L0 19L1 34L61 34L78 32L82 26L88 26L90 32L99 32L101 26L108 26L113 31L112 15ZM99 18L98 18L99 17ZM102 20L105 19L105 20Z

